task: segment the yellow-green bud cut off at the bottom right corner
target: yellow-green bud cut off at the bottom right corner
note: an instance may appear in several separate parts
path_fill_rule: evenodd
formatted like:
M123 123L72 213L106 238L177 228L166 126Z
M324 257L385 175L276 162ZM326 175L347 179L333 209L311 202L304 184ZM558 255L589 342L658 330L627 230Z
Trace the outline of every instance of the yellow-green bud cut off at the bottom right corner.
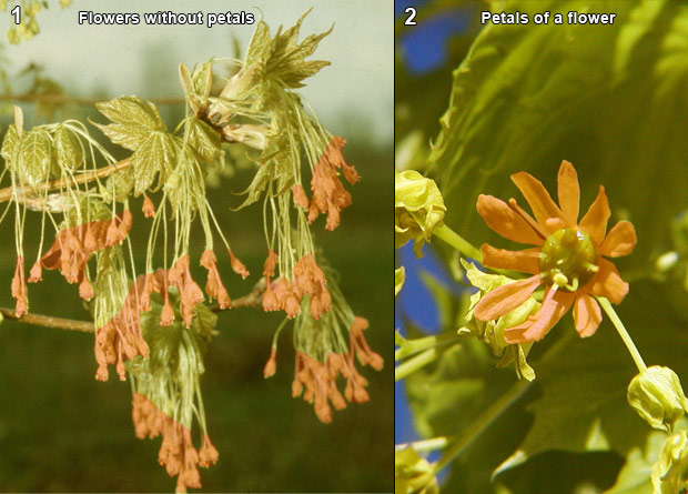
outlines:
M655 494L675 494L688 488L688 436L680 431L667 437L650 474Z

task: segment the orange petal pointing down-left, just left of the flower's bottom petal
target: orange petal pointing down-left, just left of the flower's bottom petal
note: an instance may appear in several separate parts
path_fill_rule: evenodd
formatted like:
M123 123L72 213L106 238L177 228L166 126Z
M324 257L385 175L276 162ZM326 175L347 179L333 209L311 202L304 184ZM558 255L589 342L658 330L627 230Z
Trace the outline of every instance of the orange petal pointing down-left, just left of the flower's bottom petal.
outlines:
M575 295L575 292L555 292L547 289L543 306L537 314L528 317L523 324L505 330L504 340L507 343L530 343L542 340L566 314L574 303Z

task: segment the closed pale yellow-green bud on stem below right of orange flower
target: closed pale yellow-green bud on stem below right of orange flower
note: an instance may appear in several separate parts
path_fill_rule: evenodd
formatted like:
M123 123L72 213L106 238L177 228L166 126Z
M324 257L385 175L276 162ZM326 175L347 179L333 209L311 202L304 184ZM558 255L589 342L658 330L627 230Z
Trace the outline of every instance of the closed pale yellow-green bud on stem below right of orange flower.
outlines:
M678 375L669 367L654 365L636 375L628 385L628 403L652 427L671 431L688 410Z

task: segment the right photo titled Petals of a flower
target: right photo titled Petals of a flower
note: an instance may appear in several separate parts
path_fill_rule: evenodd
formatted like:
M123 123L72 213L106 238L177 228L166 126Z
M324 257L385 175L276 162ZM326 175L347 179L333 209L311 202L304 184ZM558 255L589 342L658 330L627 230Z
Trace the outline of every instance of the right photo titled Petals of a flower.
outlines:
M395 1L395 490L688 488L688 3Z

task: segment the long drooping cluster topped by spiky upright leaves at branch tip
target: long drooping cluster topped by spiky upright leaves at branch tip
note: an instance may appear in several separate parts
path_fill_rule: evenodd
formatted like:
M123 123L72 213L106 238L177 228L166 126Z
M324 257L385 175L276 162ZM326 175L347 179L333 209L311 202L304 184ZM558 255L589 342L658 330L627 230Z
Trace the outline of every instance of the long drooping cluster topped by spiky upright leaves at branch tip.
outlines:
M290 317L299 314L304 293L310 294L316 317L328 310L327 291L321 281L324 278L320 268L310 262L315 246L308 224L325 213L326 228L334 230L341 210L351 204L340 173L351 184L358 181L358 173L342 153L345 139L323 129L315 115L305 110L302 97L293 91L303 85L303 79L328 64L305 61L327 32L299 43L304 17L296 26L280 29L274 38L270 37L267 26L259 22L245 59L216 97L211 95L211 62L193 72L180 67L194 121L215 129L225 142L242 142L261 151L249 155L257 171L240 208L264 195L269 252L265 265L272 265L266 278L272 278L275 269L279 274L274 283L267 283L263 306L269 311L284 310ZM235 115L242 119L234 119ZM302 154L312 172L311 200L303 186ZM300 274L300 270L304 273Z

